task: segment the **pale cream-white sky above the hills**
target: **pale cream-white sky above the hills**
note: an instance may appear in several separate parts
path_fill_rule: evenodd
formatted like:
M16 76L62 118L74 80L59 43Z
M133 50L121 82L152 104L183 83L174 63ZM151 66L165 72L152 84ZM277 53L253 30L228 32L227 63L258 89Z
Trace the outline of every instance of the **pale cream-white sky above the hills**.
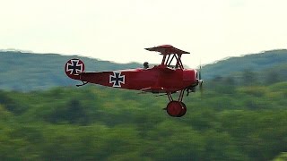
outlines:
M287 48L287 1L0 0L0 49L160 64L143 48L168 44L189 67Z

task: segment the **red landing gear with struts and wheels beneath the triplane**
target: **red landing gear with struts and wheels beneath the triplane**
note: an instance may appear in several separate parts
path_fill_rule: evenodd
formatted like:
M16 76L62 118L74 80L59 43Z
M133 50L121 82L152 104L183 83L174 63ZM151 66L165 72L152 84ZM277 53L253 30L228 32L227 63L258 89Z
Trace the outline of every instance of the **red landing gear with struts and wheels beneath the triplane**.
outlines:
M170 103L168 104L166 110L167 113L172 117L181 117L187 113L187 106L182 102L183 94L185 90L181 90L178 100L173 100L171 97L171 93L168 92L167 95L170 99Z

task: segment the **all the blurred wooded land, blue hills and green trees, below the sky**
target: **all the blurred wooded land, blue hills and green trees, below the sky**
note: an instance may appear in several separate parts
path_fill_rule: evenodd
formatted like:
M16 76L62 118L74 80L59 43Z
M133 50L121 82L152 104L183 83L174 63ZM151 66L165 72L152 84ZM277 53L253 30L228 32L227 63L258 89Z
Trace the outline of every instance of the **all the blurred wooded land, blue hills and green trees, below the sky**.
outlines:
M65 76L142 67L82 56L0 52L1 160L282 160L287 151L287 50L203 66L204 92L170 117L167 97Z

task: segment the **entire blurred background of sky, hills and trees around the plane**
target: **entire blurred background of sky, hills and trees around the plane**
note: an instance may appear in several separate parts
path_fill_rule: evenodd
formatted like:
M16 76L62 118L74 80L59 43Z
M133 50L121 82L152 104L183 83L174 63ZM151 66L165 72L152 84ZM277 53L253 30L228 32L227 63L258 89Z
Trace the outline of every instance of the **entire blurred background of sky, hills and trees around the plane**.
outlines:
M0 160L287 160L286 0L0 0ZM167 97L81 84L86 71L202 64L204 91Z

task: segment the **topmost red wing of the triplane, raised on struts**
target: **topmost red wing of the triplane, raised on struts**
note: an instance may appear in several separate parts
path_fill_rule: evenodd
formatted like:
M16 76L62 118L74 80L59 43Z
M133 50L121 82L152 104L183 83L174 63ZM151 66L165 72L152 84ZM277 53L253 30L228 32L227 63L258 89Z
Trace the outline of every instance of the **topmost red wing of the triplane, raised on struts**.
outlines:
M170 45L162 45L158 47L149 47L145 48L148 51L156 51L160 52L161 55L171 55L171 54L177 54L177 55L182 55L182 54L190 54L189 52L180 50L176 47L172 47Z

